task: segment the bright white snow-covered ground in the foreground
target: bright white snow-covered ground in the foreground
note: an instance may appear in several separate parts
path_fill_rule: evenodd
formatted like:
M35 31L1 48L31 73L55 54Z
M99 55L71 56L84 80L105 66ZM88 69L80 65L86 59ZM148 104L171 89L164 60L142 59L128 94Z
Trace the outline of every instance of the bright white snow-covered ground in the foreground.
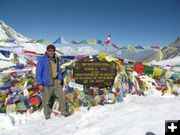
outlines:
M180 97L127 96L123 102L82 107L69 117L45 120L42 112L0 114L0 135L145 135L165 134L165 120L180 119Z

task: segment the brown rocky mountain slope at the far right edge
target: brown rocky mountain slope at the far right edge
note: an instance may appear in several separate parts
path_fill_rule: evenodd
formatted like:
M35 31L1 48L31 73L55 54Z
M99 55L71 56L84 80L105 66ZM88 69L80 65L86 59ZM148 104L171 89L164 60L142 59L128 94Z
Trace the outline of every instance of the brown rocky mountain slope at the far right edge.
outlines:
M180 56L180 49L176 46L180 46L180 37L177 37L177 39L169 44L167 47L164 47L162 49L163 53L163 60L174 58L176 56Z

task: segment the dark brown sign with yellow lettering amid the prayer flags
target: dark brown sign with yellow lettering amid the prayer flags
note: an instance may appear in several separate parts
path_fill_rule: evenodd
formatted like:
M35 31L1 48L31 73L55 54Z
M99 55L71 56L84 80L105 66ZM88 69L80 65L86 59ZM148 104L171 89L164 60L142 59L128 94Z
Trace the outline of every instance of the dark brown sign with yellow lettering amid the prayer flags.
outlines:
M116 63L106 61L77 61L73 67L76 83L99 88L111 87L116 76Z

